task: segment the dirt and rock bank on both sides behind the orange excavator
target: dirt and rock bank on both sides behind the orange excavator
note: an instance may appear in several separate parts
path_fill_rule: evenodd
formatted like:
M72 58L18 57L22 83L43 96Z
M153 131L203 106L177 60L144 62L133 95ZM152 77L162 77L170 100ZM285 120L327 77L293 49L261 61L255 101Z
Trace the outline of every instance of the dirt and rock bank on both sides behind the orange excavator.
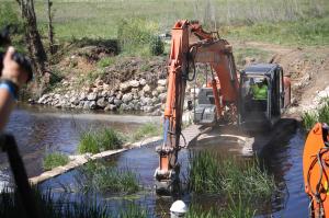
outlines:
M314 108L329 87L329 48L230 42L239 69L256 62L280 64L292 80L291 116ZM53 65L61 78L39 104L104 111L144 111L159 115L166 99L167 57L122 57L106 44L66 47ZM201 76L202 77L202 76ZM201 79L201 80L204 80ZM190 91L190 87L188 89ZM329 89L328 89L329 92ZM328 93L329 94L329 93Z

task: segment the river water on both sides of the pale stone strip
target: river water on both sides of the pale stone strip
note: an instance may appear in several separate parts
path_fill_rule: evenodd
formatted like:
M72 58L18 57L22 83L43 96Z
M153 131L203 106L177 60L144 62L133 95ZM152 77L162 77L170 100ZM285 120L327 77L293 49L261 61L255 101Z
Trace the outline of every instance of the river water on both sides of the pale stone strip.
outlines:
M58 150L73 153L79 141L79 135L88 128L100 128L111 126L118 130L129 133L144 122L159 122L159 117L147 117L136 115L104 115L69 113L63 111L47 111L38 107L19 107L11 116L8 130L16 137L21 153L30 176L42 171L42 158L46 152ZM302 154L305 134L297 130L293 135L271 145L261 154L266 168L271 171L280 186L281 194L273 198L265 209L258 211L257 217L307 217L308 199L304 194ZM208 145L212 149L226 152L227 145ZM196 147L195 149L200 149ZM186 165L189 150L180 152L180 162ZM140 149L133 149L115 156L117 167L129 165L138 172L143 185L149 191L136 197L137 202L146 206L154 214L168 211L171 197L159 197L152 192L154 172L158 167L158 156L155 145ZM1 170L8 175L5 158L1 156ZM182 168L184 174L184 167ZM42 184L44 188L53 188L58 193L63 188L75 188L72 179L77 171L71 171ZM7 180L2 176L2 180ZM70 194L71 195L71 194ZM81 196L80 196L81 197ZM125 200L117 200L114 196L100 196L113 208L118 208ZM192 200L190 195L181 196L186 203ZM129 202L131 199L128 199ZM207 202L209 199L202 199Z

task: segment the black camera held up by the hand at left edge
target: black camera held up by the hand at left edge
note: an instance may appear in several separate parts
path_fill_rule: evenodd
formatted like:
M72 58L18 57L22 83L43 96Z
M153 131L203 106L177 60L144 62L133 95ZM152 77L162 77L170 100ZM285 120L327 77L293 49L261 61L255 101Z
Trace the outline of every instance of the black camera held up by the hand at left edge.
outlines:
M10 34L15 31L13 25L7 25L2 31L0 31L0 47L7 47L11 44ZM0 76L3 69L3 58L4 53L0 53ZM27 73L29 79L31 81L33 78L33 71L30 60L20 53L14 53L12 59L18 62Z

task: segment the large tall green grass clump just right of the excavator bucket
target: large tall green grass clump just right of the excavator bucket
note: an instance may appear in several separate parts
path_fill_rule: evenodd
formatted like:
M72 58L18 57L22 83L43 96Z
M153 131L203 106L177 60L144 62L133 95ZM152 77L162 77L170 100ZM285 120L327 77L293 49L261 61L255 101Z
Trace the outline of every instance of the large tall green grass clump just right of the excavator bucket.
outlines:
M190 158L190 191L270 198L276 190L274 177L262 171L257 160L243 167L239 163L209 151L193 153Z

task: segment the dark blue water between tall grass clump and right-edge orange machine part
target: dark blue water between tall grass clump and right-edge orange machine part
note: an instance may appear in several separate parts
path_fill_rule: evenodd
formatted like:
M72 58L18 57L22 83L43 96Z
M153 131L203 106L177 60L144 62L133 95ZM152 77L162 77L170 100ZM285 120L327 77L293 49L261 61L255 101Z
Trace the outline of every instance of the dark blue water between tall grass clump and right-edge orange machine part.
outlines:
M264 152L264 160L275 175L283 193L273 199L272 217L307 217L308 198L304 193L303 149L305 133L297 133L281 144L272 145ZM264 216L268 217L268 216Z

